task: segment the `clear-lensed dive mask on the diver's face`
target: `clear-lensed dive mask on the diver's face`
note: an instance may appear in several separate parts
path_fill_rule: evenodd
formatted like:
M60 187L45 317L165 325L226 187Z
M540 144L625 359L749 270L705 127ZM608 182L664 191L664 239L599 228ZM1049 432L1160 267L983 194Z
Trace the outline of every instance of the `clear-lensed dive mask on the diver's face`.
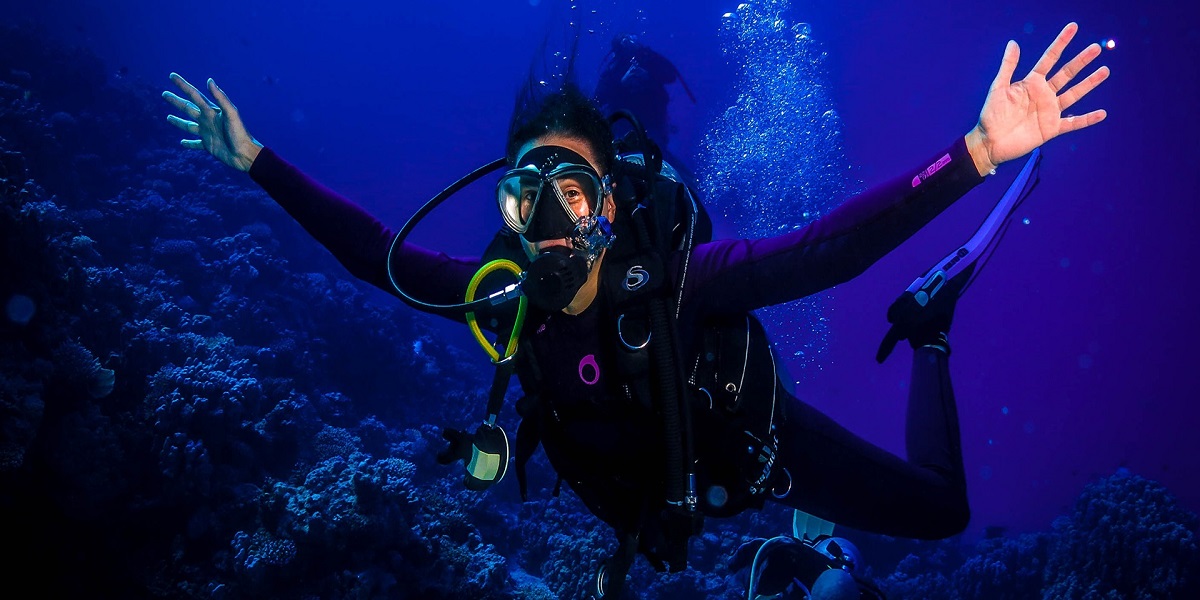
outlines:
M571 238L580 215L596 217L608 186L578 152L544 145L500 178L496 197L509 229L539 242Z

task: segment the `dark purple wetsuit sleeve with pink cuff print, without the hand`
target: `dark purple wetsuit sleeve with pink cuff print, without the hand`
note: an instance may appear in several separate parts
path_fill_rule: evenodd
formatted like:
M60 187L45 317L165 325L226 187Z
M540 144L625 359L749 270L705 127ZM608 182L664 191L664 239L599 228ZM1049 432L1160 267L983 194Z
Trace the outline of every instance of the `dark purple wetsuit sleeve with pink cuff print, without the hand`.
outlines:
M852 280L983 181L959 139L918 169L850 198L803 229L696 247L680 301L694 314L796 300Z

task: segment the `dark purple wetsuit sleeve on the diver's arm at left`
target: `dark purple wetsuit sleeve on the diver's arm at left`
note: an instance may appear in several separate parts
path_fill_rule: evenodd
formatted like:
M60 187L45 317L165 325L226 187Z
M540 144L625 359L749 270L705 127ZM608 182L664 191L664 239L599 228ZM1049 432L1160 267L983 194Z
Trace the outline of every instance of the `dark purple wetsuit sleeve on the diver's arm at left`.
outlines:
M396 232L269 148L258 154L250 178L352 275L395 294L388 278L388 250ZM392 256L396 282L418 300L431 304L461 302L478 268L478 258L451 258L407 242Z

